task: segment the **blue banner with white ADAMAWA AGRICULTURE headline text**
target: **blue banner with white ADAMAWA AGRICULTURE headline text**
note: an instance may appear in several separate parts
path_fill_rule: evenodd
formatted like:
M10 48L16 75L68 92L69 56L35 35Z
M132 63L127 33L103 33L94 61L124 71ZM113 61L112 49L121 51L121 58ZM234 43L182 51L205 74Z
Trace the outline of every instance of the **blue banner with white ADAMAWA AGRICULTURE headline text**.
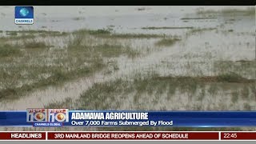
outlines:
M0 126L256 126L256 111L136 111L33 108L0 111Z

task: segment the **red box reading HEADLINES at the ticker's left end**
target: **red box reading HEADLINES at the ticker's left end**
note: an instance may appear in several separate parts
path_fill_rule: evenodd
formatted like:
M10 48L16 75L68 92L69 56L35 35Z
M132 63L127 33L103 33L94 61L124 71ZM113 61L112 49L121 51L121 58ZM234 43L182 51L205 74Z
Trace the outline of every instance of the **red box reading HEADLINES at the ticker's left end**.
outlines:
M46 140L46 132L0 132L0 140Z

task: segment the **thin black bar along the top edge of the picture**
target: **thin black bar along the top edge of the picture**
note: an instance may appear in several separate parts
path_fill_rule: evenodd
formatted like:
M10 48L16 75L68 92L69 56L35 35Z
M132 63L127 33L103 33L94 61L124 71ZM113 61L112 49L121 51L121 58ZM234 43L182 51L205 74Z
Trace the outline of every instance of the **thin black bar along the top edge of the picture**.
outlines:
M256 0L0 0L0 6L255 6Z

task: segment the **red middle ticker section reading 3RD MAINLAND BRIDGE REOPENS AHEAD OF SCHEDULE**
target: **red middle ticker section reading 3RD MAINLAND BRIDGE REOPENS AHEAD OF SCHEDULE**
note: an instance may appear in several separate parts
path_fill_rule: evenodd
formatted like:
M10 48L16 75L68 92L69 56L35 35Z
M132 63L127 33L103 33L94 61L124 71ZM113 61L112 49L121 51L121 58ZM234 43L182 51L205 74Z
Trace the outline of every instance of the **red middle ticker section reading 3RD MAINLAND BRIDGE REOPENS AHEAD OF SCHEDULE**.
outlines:
M48 132L49 140L218 140L218 132Z

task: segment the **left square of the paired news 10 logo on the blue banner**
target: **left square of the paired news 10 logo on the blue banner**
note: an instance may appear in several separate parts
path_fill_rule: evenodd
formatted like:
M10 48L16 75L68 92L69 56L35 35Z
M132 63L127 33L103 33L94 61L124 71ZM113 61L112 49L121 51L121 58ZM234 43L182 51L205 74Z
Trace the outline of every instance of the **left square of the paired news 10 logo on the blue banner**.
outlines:
M47 122L47 109L26 109L26 122Z

